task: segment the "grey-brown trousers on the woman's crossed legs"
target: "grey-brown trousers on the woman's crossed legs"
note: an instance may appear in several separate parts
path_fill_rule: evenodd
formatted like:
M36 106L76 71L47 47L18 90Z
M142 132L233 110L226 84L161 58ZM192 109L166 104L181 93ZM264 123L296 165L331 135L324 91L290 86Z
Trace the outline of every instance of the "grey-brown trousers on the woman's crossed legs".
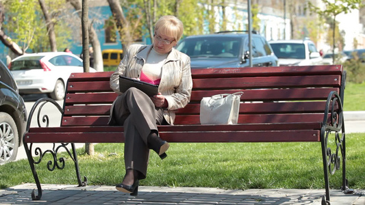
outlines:
M158 131L157 124L166 124L163 110L155 108L149 96L131 87L118 96L114 103L113 118L124 126L125 169L135 169L146 178L149 161L147 137L151 131Z

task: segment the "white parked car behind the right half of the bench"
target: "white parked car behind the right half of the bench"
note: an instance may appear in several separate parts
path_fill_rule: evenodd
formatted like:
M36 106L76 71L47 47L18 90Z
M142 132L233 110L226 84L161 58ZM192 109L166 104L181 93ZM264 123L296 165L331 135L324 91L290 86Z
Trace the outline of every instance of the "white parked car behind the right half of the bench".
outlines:
M279 58L280 66L310 66L321 64L322 57L308 39L304 40L275 40L268 42L275 55Z

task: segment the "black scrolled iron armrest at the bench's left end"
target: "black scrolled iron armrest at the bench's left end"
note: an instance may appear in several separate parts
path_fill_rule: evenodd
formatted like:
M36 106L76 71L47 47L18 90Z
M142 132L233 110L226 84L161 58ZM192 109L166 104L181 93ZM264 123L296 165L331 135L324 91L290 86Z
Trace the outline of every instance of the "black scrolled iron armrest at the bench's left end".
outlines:
M36 109L39 107L38 111L37 111L37 123L38 123L38 127L42 127L45 126L45 127L48 127L49 126L49 117L47 114L45 115L42 115L41 116L41 111L42 111L42 108L48 103L50 102L51 104L53 104L57 109L58 111L60 111L60 113L63 115L64 114L64 111L62 109L62 107L60 105L58 105L58 103L51 99L51 98L40 98L39 100L36 101L36 103L34 103L32 109L30 110L29 112L29 117L28 117L28 120L27 120L27 128L26 128L26 132L29 131L29 128L30 128L30 124L32 122L32 118L33 118L33 114L34 112L36 111ZM40 118L42 118L42 124L40 122Z

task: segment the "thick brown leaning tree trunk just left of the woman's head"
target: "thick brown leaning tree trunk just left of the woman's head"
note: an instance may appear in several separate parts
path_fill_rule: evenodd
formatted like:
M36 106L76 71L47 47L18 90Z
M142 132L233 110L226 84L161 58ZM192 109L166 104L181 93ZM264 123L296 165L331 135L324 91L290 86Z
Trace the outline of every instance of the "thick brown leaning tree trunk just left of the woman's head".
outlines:
M121 36L123 50L127 51L129 45L133 42L129 21L127 18L125 18L121 3L119 3L118 0L108 0L108 3L116 22L116 28L118 29L119 35Z

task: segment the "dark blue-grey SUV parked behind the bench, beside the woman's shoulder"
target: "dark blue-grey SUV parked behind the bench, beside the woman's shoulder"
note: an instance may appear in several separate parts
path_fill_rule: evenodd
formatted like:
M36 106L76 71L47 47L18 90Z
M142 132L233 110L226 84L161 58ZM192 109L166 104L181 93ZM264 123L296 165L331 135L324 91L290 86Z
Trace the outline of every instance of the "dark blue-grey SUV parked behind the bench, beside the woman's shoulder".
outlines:
M191 68L240 68L249 66L249 34L244 31L222 31L188 36L176 49L191 59ZM277 66L264 37L252 34L252 64L255 67Z

